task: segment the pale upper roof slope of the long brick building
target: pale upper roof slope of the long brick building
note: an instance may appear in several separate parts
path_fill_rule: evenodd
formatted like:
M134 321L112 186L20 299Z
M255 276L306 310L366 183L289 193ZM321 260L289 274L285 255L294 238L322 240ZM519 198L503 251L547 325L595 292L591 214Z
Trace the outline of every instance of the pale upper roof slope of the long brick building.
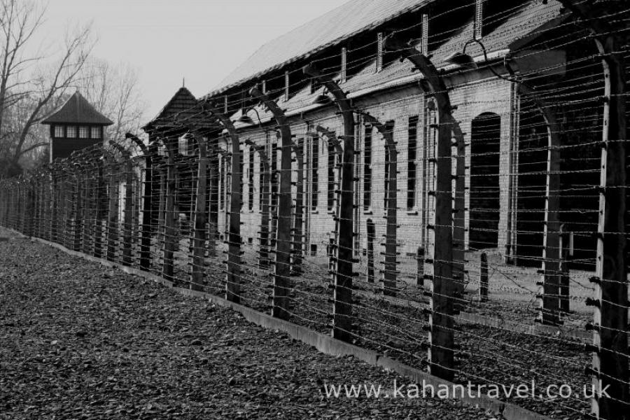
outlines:
M427 2L428 0L350 0L262 45L223 79L209 96L340 43L395 16L419 9Z

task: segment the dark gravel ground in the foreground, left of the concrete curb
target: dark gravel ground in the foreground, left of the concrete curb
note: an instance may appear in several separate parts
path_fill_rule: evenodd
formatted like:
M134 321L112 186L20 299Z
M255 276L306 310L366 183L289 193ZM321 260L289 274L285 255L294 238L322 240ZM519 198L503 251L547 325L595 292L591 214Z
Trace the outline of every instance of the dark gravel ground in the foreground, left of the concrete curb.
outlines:
M325 398L323 384L409 381L48 246L0 241L0 255L0 419L496 418Z

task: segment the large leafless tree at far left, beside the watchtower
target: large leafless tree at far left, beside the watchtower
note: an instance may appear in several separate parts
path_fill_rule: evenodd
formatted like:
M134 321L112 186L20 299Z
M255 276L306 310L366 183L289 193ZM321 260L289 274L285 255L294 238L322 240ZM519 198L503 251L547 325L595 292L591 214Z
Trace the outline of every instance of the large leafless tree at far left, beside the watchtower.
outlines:
M53 55L34 50L45 8L0 0L0 176L20 171L20 159L48 144L34 136L38 121L59 105L90 55L91 25L69 31Z

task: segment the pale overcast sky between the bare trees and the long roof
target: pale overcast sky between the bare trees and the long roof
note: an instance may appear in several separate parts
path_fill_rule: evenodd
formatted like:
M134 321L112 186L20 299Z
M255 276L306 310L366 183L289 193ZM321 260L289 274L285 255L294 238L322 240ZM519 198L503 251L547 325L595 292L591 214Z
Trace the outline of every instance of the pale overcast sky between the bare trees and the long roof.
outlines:
M94 55L139 71L151 119L181 87L207 94L260 45L346 0L50 0L43 31L94 22Z

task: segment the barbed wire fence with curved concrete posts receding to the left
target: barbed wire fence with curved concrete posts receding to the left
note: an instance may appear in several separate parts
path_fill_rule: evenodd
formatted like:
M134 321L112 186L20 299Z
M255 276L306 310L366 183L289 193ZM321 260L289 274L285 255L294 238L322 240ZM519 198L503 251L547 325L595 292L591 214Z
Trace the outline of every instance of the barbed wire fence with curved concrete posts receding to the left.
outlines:
M360 58L344 52L348 69L379 65L382 48L401 59L380 63L383 78L421 73L418 92L386 109L353 99L366 86L320 57L279 76L302 76L293 98L292 83L266 80L154 123L148 144L127 134L0 181L0 225L442 379L534 381L533 398L502 398L540 414L621 419L630 400L624 34L586 16L563 21L518 51L566 49L543 75L486 56L484 68L447 81L435 63L461 45L430 57L440 34L429 38L428 27L448 13L361 46ZM624 13L609 18L625 22ZM316 92L332 95L319 105L339 115L285 111ZM235 122L235 110L255 120ZM592 397L549 398L554 384L592 385Z

